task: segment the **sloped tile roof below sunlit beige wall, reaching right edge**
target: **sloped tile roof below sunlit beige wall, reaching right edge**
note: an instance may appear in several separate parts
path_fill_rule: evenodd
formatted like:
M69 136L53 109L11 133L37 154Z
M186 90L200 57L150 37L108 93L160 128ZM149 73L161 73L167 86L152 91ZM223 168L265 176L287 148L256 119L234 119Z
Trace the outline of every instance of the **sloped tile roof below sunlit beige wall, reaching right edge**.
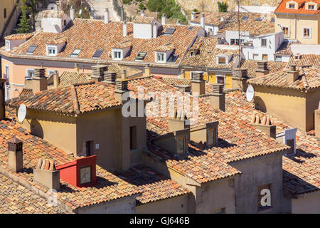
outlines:
M238 91L226 94L225 102L228 113L247 123L252 113L264 115ZM271 116L271 120L272 125L277 126L277 133L291 128L274 116ZM284 156L282 165L284 189L297 195L320 190L320 141L314 136L297 129L296 155Z

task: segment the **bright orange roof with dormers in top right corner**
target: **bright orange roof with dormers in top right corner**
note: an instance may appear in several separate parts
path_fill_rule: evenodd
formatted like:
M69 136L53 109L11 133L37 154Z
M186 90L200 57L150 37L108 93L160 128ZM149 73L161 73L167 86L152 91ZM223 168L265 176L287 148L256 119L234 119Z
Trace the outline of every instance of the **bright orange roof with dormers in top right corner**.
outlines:
M292 0L282 0L279 5L277 6L277 9L274 10L274 13L277 14L309 14L309 15L316 15L319 13L320 10L320 1L319 0L314 0L314 1L305 1L305 0L294 0L294 2L300 4L298 9L287 9L286 3L288 1ZM305 9L305 4L307 2L313 2L315 4L318 4L318 8L316 7L315 10L309 10Z

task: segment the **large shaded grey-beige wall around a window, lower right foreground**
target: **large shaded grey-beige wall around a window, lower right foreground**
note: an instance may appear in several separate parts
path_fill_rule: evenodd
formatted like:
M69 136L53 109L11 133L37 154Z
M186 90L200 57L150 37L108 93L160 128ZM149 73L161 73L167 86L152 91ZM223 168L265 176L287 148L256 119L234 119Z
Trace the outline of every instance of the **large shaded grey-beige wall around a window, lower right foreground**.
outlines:
M230 165L242 172L235 180L236 213L257 213L257 188L271 184L271 207L259 213L282 212L282 153L274 153Z

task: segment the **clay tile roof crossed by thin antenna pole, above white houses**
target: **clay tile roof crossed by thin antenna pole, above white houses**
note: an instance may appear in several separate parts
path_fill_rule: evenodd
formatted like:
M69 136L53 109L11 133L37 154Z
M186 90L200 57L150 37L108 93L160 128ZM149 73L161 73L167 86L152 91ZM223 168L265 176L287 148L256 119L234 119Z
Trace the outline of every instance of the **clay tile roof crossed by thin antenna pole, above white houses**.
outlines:
M253 36L274 33L272 19L274 19L272 14L240 12L240 31L248 31ZM238 31L238 14L233 14L230 22L225 24L218 33L225 31Z

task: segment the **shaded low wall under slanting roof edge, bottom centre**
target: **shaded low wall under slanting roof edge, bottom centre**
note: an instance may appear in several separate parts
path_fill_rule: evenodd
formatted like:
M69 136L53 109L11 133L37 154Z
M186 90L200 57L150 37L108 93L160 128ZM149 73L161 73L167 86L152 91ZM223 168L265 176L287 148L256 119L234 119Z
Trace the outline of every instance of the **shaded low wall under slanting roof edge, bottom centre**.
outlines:
M188 214L190 195L161 199L136 207L137 214Z

